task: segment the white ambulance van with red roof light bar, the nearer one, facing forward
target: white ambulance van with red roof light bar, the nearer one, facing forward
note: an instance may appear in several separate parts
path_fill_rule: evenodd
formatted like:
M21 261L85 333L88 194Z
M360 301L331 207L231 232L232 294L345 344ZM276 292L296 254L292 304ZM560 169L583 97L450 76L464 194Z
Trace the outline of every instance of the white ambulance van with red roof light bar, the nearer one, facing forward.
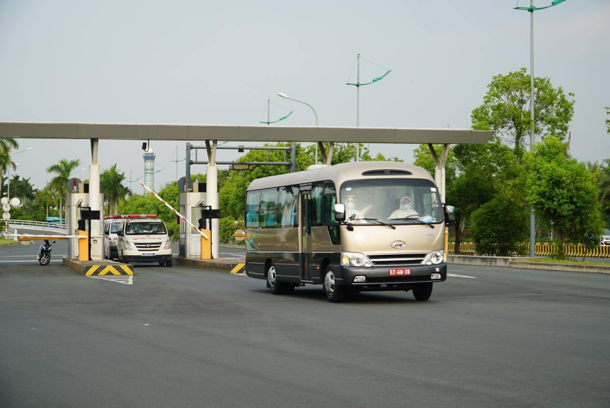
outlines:
M123 228L117 231L118 260L171 266L170 236L173 234L156 214L129 215Z

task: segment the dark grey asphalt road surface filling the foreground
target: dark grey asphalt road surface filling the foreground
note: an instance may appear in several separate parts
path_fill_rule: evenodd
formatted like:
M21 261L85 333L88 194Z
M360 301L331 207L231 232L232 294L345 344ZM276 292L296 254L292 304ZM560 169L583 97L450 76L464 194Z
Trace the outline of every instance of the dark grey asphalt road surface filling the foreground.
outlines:
M331 304L178 266L82 277L37 247L0 248L0 406L610 406L610 275L450 265L428 302Z

